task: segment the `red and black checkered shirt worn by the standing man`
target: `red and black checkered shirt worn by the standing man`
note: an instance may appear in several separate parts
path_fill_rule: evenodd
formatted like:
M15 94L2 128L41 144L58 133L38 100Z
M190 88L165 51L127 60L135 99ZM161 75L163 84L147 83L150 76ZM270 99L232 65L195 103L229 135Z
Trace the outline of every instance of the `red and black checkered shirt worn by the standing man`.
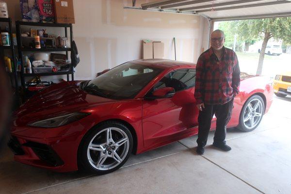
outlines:
M239 94L240 66L235 52L223 47L219 61L212 48L203 52L196 65L196 103L225 104Z

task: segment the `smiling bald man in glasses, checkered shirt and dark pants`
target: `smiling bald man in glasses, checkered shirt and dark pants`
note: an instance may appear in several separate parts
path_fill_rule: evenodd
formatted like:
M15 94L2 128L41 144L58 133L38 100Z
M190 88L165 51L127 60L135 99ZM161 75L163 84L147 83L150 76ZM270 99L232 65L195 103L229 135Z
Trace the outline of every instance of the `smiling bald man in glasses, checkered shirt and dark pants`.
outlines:
M224 151L226 125L230 120L233 99L239 93L240 67L236 53L224 47L225 36L221 30L211 33L211 48L203 52L196 65L195 99L199 109L197 154L204 154L204 146L215 114L216 131L213 146Z

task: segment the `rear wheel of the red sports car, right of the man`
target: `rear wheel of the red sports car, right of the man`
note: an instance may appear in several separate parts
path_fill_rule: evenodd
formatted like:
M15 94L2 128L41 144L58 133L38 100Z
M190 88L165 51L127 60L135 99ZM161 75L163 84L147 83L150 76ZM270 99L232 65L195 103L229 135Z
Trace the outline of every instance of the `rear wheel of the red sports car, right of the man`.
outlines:
M259 103L258 106L257 103ZM254 108L256 109L254 110ZM263 98L258 95L250 97L242 107L238 129L244 132L256 129L263 118L264 112L265 104Z

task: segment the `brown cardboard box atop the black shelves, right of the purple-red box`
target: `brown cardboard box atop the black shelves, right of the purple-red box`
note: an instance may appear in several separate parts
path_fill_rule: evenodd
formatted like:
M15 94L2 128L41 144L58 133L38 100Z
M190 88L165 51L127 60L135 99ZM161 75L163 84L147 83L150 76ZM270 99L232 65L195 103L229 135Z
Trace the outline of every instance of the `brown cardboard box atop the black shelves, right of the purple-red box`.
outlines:
M56 23L74 24L73 0L53 0Z

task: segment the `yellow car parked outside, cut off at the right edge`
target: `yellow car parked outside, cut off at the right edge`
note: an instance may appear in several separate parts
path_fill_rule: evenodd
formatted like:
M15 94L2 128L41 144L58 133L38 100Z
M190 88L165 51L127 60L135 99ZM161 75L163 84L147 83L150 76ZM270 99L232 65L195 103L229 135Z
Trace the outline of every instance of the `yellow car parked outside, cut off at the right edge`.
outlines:
M291 95L291 72L276 75L273 88L277 97Z

